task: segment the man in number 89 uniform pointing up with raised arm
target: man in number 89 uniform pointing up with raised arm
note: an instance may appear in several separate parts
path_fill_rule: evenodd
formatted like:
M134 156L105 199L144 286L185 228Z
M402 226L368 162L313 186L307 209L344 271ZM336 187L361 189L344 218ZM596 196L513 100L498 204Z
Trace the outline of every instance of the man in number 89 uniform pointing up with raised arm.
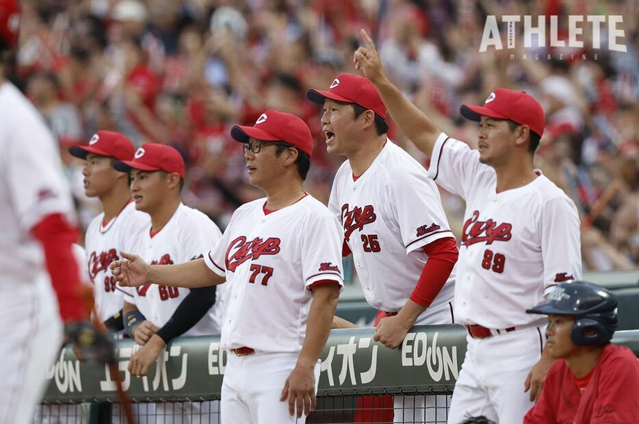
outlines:
M480 122L479 150L471 150L404 98L384 77L365 31L362 37L356 66L402 131L430 155L429 176L466 201L455 316L469 330L468 350L448 422L483 415L519 423L552 363L545 323L525 310L582 272L575 204L533 168L543 109L529 94L506 89L493 91L482 107L462 105L462 116Z

